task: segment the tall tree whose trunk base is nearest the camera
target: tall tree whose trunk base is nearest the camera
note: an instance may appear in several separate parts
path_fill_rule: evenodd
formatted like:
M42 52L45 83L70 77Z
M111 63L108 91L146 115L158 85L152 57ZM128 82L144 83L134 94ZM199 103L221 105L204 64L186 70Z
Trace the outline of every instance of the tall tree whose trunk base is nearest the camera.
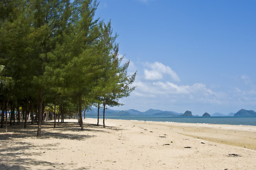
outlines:
M48 72L45 72L45 68L50 64L49 56L52 55L57 43L62 40L60 38L62 35L61 30L65 29L63 22L69 18L68 15L67 18L62 17L62 15L66 10L69 10L69 1L29 1L28 6L28 20L30 21L30 26L32 26L29 38L33 42L31 48L35 51L31 55L34 57L34 63L38 64L35 69L36 74L33 76L33 84L39 96L37 136L40 137L43 118L43 96L50 81L50 76Z

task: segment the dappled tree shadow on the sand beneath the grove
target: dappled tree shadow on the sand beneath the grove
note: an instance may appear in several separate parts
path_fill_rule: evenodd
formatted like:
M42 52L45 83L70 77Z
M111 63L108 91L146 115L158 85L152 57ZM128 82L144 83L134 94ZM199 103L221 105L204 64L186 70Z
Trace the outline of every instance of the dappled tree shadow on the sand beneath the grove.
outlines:
M58 140L87 140L90 137L96 137L97 132L109 132L109 130L121 130L117 127L97 126L93 124L84 124L84 130L81 130L77 123L60 123L53 128L53 123L44 123L42 126L41 137L35 137L37 125L29 125L23 128L23 124L12 125L8 127L8 132L0 129L0 170L1 169L29 169L29 167L44 166L45 169L65 169L67 163L52 163L31 159L31 157L40 157L50 149L57 148L59 143L40 144L40 140L53 138ZM85 135L84 132L93 132L95 135ZM19 139L23 139L22 142ZM26 140L38 140L38 145L32 144ZM43 150L42 150L43 148ZM38 150L41 149L41 150ZM32 151L35 152L32 152ZM70 165L70 164L68 164ZM57 168L55 168L57 167ZM87 169L87 168L84 168Z

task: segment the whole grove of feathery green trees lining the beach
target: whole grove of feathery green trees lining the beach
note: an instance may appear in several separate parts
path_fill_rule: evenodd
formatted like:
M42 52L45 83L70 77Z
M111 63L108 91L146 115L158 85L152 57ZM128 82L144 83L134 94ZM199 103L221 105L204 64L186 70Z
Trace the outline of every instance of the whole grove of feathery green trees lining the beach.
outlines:
M111 21L94 18L94 0L0 1L1 128L31 117L41 135L49 108L63 120L90 106L119 106L135 89L118 55ZM8 116L10 112L10 116ZM58 114L56 114L58 113ZM8 118L9 117L9 118ZM4 125L5 124L5 125ZM104 122L105 127L105 122Z

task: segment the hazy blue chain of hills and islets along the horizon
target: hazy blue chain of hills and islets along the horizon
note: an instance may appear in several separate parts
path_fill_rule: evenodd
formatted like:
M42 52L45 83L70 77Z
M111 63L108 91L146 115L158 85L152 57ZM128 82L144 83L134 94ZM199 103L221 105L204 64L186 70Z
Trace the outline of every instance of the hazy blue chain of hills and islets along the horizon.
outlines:
M102 108L100 109L100 115L102 114ZM97 115L97 108L91 108L85 113L89 117L94 117ZM130 109L127 111L116 111L112 109L106 109L107 116L117 116L117 117L127 117L127 116L147 116L147 117L199 117L199 115L193 115L191 111L185 111L184 113L177 113L174 111L161 111L155 109L149 109L148 111L141 112L135 109ZM222 113L214 113L210 115L209 113L204 113L201 117L256 117L255 111L247 111L241 109L237 113L229 113L224 115Z

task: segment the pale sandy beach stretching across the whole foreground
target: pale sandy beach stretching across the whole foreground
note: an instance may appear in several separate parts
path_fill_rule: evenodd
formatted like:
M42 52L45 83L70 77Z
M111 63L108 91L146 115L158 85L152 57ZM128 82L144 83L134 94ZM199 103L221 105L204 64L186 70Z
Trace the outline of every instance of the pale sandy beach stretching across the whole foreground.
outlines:
M101 120L102 122L102 120ZM256 127L86 118L0 130L0 169L256 169Z

